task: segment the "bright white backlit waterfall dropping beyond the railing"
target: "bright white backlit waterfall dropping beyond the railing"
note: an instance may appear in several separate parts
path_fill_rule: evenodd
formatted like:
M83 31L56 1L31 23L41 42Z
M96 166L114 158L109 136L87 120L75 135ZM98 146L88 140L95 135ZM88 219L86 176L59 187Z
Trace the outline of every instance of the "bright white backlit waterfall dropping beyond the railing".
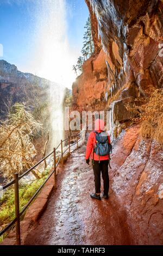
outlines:
M66 1L36 0L34 69L37 75L54 81L49 90L51 101L52 147L64 137L62 102L65 88L74 81L73 54L67 39Z

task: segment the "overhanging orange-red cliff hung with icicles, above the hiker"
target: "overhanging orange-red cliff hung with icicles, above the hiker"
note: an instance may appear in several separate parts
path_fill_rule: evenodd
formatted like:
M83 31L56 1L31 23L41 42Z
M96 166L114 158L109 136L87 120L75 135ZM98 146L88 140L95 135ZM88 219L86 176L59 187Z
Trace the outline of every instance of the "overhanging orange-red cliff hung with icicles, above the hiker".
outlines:
M116 100L131 96L134 101L135 97L146 96L153 88L161 87L163 2L86 0L86 3L91 14L95 56L87 60L83 74L73 84L74 108L111 108L114 112L115 105L110 106L110 100L115 95ZM119 103L124 109L123 102ZM127 119L128 115L122 121Z

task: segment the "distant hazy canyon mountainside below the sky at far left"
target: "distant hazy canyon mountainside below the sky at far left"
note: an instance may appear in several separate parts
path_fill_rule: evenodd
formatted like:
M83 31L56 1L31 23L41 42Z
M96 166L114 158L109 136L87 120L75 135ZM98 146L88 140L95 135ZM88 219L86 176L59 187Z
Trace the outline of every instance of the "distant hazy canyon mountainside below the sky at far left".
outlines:
M5 60L0 60L0 117L5 117L8 107L16 102L26 102L37 108L45 104L51 82L45 78L17 70Z

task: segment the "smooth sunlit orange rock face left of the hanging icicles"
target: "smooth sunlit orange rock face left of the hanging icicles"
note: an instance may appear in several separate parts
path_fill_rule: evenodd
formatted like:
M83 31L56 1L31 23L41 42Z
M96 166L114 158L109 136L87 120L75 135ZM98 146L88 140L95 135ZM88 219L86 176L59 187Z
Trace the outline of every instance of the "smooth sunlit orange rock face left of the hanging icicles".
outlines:
M105 53L88 59L83 65L83 74L73 83L74 108L80 110L103 109L108 75L105 64Z

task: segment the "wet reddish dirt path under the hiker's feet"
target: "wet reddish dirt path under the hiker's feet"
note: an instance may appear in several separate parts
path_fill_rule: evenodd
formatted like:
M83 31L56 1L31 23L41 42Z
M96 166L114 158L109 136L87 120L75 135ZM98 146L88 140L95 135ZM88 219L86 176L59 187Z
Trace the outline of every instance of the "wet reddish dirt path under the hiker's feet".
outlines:
M110 190L108 200L90 198L92 167L85 163L83 145L58 173L58 188L26 245L129 245L126 213Z

